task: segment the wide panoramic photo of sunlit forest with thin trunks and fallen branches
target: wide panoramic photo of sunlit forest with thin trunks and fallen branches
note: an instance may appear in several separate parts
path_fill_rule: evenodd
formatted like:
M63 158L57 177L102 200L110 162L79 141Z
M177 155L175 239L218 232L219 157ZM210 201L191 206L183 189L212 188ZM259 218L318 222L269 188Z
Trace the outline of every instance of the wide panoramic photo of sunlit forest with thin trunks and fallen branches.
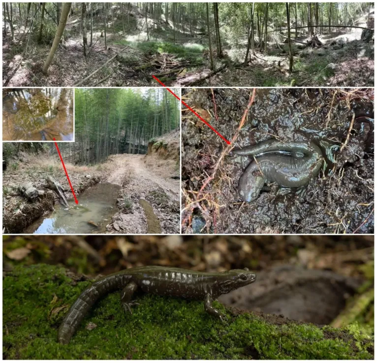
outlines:
M3 2L3 86L373 86L373 2Z

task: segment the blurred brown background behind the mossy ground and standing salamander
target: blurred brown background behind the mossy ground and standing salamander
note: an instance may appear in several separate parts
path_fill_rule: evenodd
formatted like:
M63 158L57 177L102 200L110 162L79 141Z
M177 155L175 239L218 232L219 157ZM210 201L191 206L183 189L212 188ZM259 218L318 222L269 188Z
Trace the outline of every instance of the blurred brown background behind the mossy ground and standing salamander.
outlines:
M329 235L11 235L3 271L61 264L93 278L162 265L197 271L248 267L255 283L219 298L243 310L374 332L374 237Z

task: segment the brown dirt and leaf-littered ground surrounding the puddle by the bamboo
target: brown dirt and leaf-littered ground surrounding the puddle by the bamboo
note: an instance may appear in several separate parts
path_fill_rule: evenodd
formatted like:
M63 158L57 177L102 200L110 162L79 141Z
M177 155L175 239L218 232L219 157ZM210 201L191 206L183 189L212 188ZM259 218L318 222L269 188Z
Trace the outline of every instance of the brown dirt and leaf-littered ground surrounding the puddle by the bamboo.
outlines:
M179 131L155 141L160 147L157 151L151 148L149 155L111 155L104 163L92 166L65 164L79 203L80 194L94 184L121 186L117 200L119 212L113 213L112 221L105 225L104 232L180 232ZM72 198L63 167L56 157L43 152L38 155L21 152L17 158L8 161L7 169L3 171L2 185L4 232L23 232L34 221L39 226L44 217L51 216L54 204L59 201L55 194L48 192L47 175L68 191L65 193L67 199ZM18 190L26 182L44 191L44 196L28 201ZM94 197L89 194L89 199L96 198L93 194ZM87 220L87 223L91 221Z

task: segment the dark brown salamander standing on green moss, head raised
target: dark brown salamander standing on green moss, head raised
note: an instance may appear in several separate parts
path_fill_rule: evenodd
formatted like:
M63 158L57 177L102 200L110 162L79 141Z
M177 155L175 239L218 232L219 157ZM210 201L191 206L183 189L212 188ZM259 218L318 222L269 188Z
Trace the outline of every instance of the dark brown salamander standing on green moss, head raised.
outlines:
M224 272L196 272L162 266L128 268L97 280L81 293L59 328L58 341L67 344L94 303L116 290L122 290L123 308L131 314L131 306L138 305L131 300L132 295L140 289L150 294L204 300L205 311L222 320L220 311L212 306L213 300L253 283L255 278L248 268Z

